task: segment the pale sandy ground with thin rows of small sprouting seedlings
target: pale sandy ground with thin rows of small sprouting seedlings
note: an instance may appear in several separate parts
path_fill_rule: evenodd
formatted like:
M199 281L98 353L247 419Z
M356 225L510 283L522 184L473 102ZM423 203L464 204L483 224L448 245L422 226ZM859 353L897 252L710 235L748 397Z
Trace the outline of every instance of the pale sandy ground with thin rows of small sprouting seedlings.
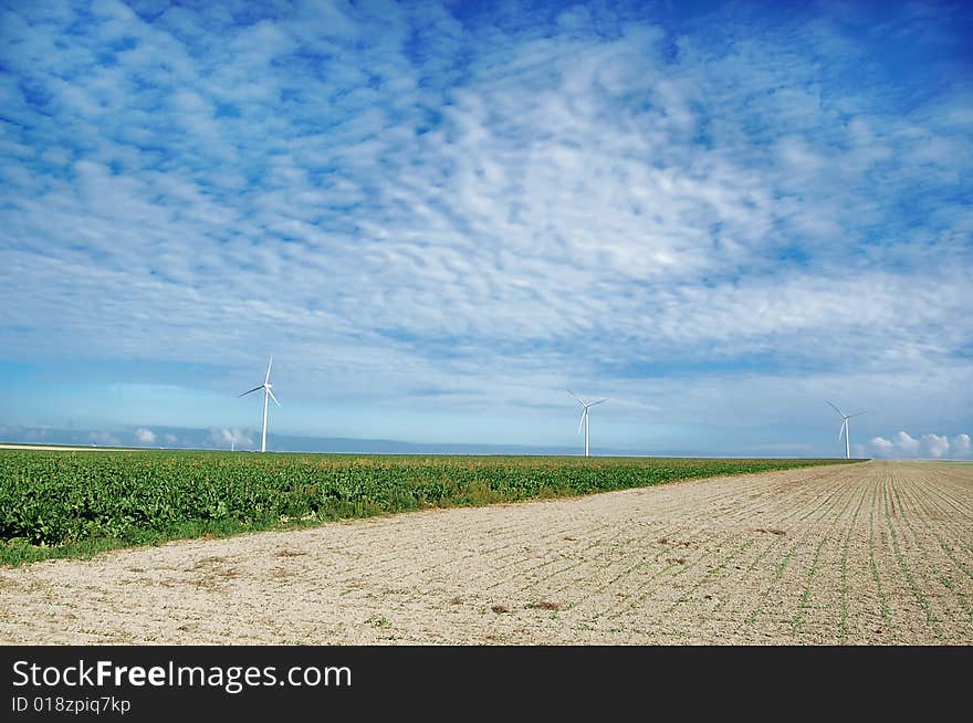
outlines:
M973 643L973 464L868 462L0 568L4 643Z

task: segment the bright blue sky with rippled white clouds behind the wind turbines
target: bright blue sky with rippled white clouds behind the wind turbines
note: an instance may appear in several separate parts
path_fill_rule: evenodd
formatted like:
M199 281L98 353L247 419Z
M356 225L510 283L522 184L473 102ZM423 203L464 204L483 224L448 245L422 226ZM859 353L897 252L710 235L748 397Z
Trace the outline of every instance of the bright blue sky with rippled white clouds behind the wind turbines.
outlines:
M0 436L252 441L273 354L271 448L577 447L572 388L596 452L837 454L830 399L859 454L969 458L971 36L960 2L0 1Z

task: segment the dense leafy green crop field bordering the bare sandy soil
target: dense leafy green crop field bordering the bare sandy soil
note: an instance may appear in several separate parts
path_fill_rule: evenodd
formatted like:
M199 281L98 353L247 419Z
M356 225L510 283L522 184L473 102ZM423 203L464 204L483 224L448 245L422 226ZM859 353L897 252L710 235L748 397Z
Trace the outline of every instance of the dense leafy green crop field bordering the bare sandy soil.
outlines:
M0 564L844 462L0 450Z

